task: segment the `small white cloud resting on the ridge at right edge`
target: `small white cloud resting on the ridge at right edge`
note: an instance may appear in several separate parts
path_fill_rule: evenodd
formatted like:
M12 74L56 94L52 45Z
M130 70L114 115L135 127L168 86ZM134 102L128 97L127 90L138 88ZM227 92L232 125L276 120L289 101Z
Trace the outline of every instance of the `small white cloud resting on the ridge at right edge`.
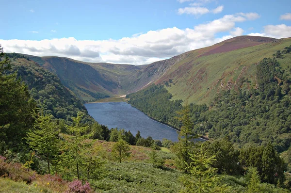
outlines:
M263 32L268 37L275 37L275 38L291 37L291 26L287 26L285 24L267 25L267 26L264 26Z

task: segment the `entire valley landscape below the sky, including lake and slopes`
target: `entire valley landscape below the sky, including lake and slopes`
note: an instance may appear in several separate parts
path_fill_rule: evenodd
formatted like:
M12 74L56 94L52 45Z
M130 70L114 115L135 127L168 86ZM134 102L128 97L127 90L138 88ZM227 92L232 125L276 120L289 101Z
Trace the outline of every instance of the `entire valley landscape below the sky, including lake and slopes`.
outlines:
M209 160L214 188L247 192L252 174L263 192L288 192L290 50L291 38L239 36L141 66L8 53L10 59L1 59L8 69L2 87L12 82L21 92L4 89L12 106L0 98L11 109L0 111L6 117L0 122L0 166L10 175L0 185L39 191L39 184L47 192L64 192L74 183L91 192L118 192L119 186L124 192L177 192L193 177L187 165ZM197 143L201 136L210 140ZM16 150L19 142L22 149ZM22 176L17 164L5 162L20 162L17 152L29 167L19 170ZM32 179L33 188L26 176L34 172L49 176Z

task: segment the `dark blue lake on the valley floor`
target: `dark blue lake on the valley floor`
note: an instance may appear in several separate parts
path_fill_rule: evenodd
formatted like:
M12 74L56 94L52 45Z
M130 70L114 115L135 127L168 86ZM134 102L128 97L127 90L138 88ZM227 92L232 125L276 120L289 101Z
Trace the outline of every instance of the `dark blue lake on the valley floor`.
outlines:
M118 127L130 130L133 135L139 130L145 138L178 141L175 129L149 118L126 102L87 103L85 107L99 124L107 125L109 129Z

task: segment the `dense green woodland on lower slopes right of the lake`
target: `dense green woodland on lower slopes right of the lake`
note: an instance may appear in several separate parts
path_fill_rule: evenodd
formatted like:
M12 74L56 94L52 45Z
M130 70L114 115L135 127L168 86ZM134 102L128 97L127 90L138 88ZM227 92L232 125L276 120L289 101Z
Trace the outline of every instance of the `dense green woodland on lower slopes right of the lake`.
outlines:
M237 88L217 93L207 107L189 105L194 132L218 139L228 136L237 147L266 145L272 142L278 152L291 143L291 54L287 48L274 58L260 61L254 70L256 84L242 78ZM182 100L170 100L165 86L152 85L128 95L129 103L149 116L180 128L176 112L183 109ZM291 168L289 168L289 171Z

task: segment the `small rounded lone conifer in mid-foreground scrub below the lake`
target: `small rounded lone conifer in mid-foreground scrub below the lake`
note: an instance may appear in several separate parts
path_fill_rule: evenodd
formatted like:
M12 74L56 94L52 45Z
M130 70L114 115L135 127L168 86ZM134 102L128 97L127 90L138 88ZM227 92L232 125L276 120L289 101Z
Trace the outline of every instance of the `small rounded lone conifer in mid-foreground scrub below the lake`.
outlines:
M113 158L118 160L120 163L130 157L130 146L123 139L119 138L117 142L114 143L112 147Z

